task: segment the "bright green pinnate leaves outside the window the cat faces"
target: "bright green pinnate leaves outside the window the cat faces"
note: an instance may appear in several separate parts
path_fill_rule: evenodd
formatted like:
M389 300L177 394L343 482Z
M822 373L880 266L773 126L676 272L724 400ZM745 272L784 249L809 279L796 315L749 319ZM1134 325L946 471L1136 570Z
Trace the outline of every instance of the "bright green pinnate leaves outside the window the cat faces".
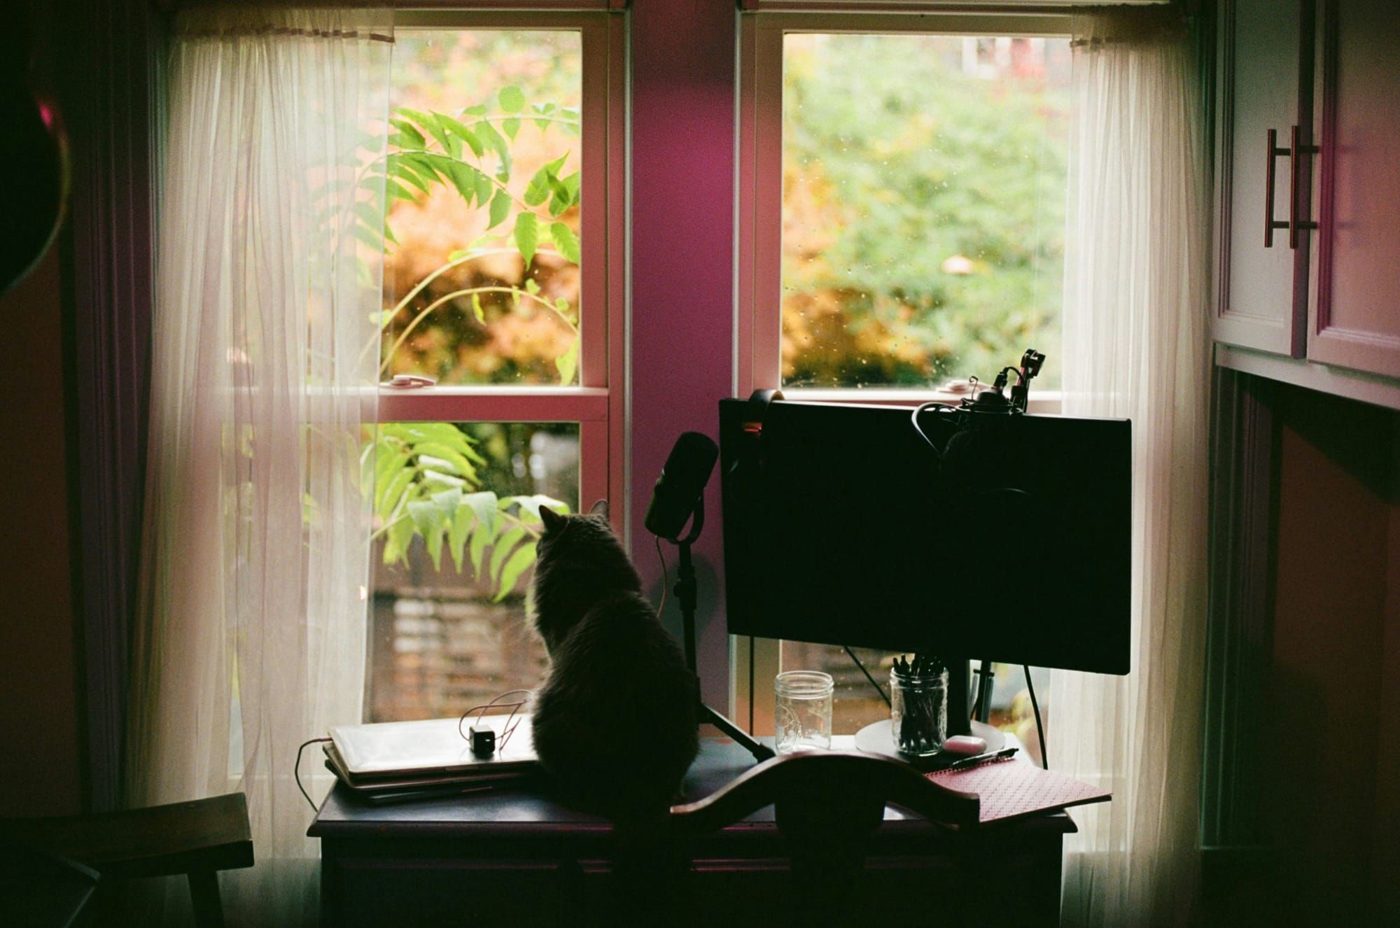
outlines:
M382 174L368 186L384 183L386 209L396 200L419 203L434 192L447 190L462 203L486 213L486 234L461 249L421 280L379 319L385 332L381 377L389 377L400 349L420 328L442 326L451 308L469 307L477 323L491 312L533 311L554 315L571 333L571 344L553 364L559 382L573 384L578 367L577 309L564 297L547 298L538 280L519 283L486 281L437 287L458 269L489 256L514 251L529 273L536 258L552 249L577 266L578 238L563 217L575 211L580 200L578 172L566 172L567 153L538 167L522 193L510 188L515 167L514 143L525 122L539 127L557 125L566 136L578 136L578 111L553 102L531 102L519 87L501 88L489 104L466 106L455 113L395 108L389 137L391 154L378 162ZM377 241L381 230L370 221L379 213L367 209L357 234ZM491 239L493 230L510 230L510 245ZM398 245L392 223L385 221L384 239ZM434 567L441 567L444 550L462 571L468 563L479 581L494 589L497 600L507 596L521 575L535 563L542 532L539 509L547 505L567 512L568 505L545 495L498 497L483 488L482 470L487 461L477 441L452 423L381 423L364 452L363 480L372 487L375 537L382 539L385 564L407 563L409 547L421 537Z

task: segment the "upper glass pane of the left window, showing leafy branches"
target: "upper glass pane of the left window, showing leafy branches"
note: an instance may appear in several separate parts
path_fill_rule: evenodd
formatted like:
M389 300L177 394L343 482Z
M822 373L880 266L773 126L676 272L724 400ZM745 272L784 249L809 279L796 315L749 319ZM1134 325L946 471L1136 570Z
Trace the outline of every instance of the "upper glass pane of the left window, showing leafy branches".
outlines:
M405 31L384 374L577 382L578 32Z

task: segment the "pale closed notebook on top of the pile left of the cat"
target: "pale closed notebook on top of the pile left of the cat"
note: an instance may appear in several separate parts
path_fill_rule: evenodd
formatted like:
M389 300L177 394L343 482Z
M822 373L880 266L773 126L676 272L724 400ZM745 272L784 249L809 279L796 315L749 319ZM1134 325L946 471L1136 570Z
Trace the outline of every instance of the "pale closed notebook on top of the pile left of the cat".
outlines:
M477 757L462 732L475 721L431 718L417 722L375 722L337 725L330 729L335 757L343 766L347 782L405 781L445 774L504 774L535 768L535 745L531 740L529 715L518 714L511 725L515 732L500 745L505 715L487 715L484 722L496 729L497 749L490 757ZM326 752L330 756L330 752ZM339 773L339 771L337 771Z

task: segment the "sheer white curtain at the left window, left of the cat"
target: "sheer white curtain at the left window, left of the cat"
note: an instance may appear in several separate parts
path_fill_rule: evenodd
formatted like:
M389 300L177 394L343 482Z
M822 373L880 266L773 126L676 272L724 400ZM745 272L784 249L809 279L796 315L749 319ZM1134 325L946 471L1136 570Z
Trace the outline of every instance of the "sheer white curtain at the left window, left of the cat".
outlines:
M127 794L246 792L258 864L224 875L235 924L315 915L293 763L361 714L384 197L360 179L392 35L363 10L175 28Z

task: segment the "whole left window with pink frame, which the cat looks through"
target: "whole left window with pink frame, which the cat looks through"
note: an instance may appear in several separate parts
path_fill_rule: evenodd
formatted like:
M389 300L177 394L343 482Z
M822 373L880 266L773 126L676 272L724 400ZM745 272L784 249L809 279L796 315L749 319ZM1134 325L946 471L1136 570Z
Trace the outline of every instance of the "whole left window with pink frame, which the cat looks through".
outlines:
M623 462L619 20L403 14L393 71L367 721L538 682L538 509Z

